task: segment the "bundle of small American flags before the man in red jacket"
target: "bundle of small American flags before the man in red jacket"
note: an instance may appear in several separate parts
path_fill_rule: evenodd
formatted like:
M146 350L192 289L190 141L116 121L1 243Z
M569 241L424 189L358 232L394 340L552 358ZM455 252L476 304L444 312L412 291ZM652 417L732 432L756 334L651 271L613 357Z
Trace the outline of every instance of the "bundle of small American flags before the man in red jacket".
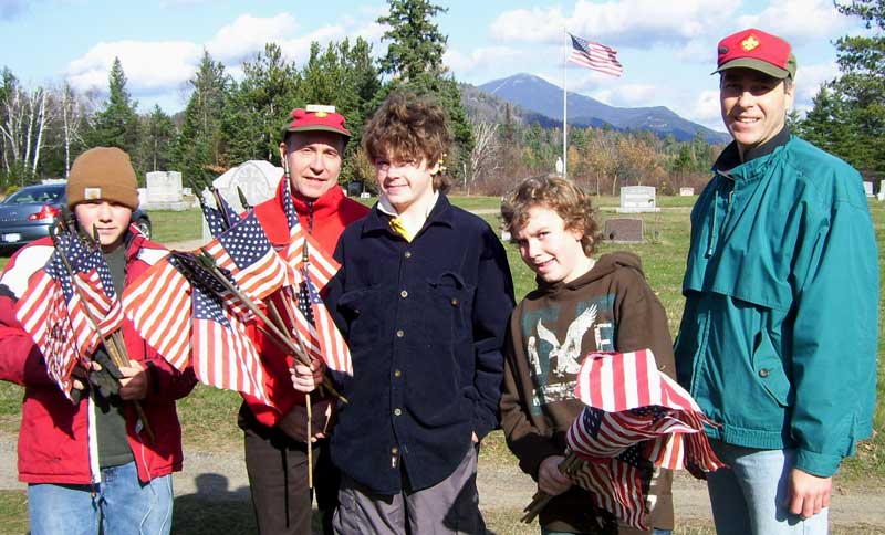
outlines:
M284 207L290 243L277 251L254 211L239 216L212 193L218 208L202 204L212 240L174 251L126 290L124 310L135 328L178 369L192 365L204 384L267 403L249 323L303 358L352 373L347 345L319 296L339 265L302 231L291 199Z

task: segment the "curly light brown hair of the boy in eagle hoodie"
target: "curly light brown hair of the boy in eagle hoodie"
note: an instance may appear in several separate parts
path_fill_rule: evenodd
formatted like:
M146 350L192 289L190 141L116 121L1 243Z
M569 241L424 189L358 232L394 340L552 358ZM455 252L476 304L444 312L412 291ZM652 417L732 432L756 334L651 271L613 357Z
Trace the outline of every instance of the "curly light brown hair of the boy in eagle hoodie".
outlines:
M518 228L529 222L529 210L535 207L553 210L565 222L566 230L582 232L584 254L593 254L601 239L600 225L593 218L596 210L581 188L556 175L527 178L504 196L501 225L514 235Z

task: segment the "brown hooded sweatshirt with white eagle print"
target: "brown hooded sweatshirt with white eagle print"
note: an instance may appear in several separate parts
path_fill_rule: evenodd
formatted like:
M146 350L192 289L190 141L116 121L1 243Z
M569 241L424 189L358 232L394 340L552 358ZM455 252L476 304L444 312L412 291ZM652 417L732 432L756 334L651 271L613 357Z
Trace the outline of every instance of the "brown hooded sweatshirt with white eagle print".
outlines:
M635 254L605 254L570 283L539 279L538 284L510 319L501 397L507 443L535 480L544 459L564 454L565 433L584 408L574 387L587 353L650 348L660 370L676 373L667 315ZM649 491L648 522L659 529L673 529L671 481L663 471ZM596 510L576 485L554 497L539 520L550 531L615 533L613 516ZM618 533L642 532L621 527Z

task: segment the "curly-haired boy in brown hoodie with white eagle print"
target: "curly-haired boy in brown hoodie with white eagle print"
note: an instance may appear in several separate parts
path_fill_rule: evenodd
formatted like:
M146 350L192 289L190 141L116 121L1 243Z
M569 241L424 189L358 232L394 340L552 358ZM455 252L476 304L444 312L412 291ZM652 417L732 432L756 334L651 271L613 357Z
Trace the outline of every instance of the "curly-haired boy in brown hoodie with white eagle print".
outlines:
M574 183L529 178L504 198L501 217L538 282L510 318L501 427L520 468L554 496L541 510L542 533L644 533L595 508L587 491L558 466L565 432L584 408L573 392L587 353L650 348L658 368L675 373L664 306L635 254L592 256L598 225L590 199ZM669 533L673 473L653 474L644 482L654 497L648 523L655 534Z

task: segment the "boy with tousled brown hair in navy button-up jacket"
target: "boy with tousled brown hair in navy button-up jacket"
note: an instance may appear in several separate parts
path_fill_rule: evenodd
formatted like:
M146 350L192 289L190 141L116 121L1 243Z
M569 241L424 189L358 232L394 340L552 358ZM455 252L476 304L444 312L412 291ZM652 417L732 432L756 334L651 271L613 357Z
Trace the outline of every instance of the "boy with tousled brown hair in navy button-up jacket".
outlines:
M486 533L477 450L498 426L513 285L488 223L441 191L450 143L445 111L403 93L363 132L382 196L344 230L326 295L353 357L332 434L339 534ZM295 388L320 377L296 366Z

